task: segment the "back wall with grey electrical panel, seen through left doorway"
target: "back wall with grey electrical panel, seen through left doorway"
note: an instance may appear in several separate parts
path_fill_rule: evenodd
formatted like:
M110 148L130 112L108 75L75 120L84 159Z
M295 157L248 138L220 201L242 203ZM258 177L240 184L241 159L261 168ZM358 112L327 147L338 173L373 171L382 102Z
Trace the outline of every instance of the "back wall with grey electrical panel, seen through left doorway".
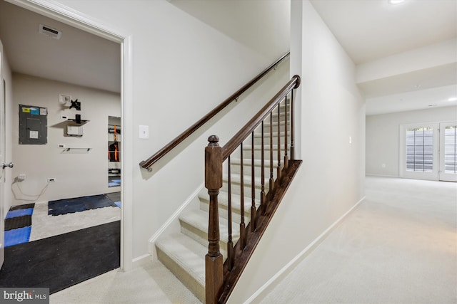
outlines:
M121 115L118 93L110 93L61 83L29 75L13 74L13 177L26 174L24 182L15 182L13 205L31 201L49 201L120 191L108 187L108 116ZM59 94L69 94L81 102L81 111L59 103ZM19 105L47 108L47 144L19 145ZM64 136L61 115L90 120L82 137ZM89 153L63 153L59 144L91 148ZM79 152L79 151L77 151ZM54 177L56 182L48 183ZM47 186L47 187L46 187ZM39 194L46 187L41 196Z

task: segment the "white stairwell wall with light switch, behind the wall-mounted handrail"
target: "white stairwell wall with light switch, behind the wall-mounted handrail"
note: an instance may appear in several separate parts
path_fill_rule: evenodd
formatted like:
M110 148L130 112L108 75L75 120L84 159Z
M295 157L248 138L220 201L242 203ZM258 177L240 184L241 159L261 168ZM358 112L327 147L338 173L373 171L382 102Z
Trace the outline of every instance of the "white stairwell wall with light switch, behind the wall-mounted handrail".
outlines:
M215 131L201 130L183 142L154 166L151 174L141 170L139 162L286 53L288 45L271 43L275 50L271 57L258 54L253 51L255 48L226 36L165 0L115 1L109 9L104 0L58 0L51 4L63 4L108 28L119 29L131 41L134 104L124 105L124 135L131 136L127 151L131 155L125 155L131 162L125 164L124 172L131 176L126 184L132 187L125 191L129 193L123 201L127 214L124 224L132 231L132 258L144 256L148 253L149 238L203 182L201 164L206 142L189 147L186 153L184 147ZM255 14L252 12L251 16ZM274 42L275 35L268 39ZM241 125L241 118L226 120L221 130L235 123ZM139 125L149 125L149 140L138 138Z

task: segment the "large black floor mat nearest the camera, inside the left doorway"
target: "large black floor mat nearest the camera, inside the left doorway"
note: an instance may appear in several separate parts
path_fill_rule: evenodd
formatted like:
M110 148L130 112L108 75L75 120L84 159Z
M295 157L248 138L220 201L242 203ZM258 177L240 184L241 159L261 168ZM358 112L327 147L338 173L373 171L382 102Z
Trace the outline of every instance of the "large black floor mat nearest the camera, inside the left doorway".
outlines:
M0 287L49 287L49 293L119 268L121 222L5 248Z

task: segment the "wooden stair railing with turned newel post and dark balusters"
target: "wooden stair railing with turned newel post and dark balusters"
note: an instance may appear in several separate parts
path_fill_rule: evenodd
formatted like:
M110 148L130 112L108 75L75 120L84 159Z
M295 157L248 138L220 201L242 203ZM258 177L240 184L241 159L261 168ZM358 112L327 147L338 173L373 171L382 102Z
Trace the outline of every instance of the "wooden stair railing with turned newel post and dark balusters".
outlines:
M226 303L231 290L241 276L243 268L251 257L256 244L258 243L266 225L276 211L277 204L273 206L275 196L281 190L283 179L290 176L291 170L296 170L299 166L294 156L293 138L293 89L300 85L298 75L293 78L244 126L234 135L229 142L221 147L219 138L216 135L209 137L209 145L205 148L205 187L209 193L209 231L208 231L208 253L206 254L206 304ZM290 108L290 112L288 112ZM283 112L281 112L281 110ZM273 120L276 116L276 121ZM283 116L285 122L281 130L280 117ZM290 117L290 120L288 120ZM264 125L269 122L269 134L266 135L269 147L265 145ZM276 124L276 126L275 126ZM261 132L261 178L260 184L255 177L254 164L254 130L260 128ZM276 127L276 142L273 141L273 127ZM288 132L289 131L289 132ZM251 136L251 180L244 181L243 167L243 142ZM282 137L282 142L281 142ZM276 153L274 153L276 145ZM283 148L282 148L283 147ZM232 236L232 194L231 194L231 155L239 150L240 153L240 206L241 219L239 239L233 246ZM281 157L281 150L283 158ZM268 167L265 167L266 154L269 157ZM276 155L275 155L276 154ZM273 161L273 158L276 159ZM224 162L227 162L227 188L228 188L228 243L227 257L223 263L223 256L219 248L219 189L224 184ZM281 162L282 161L282 162ZM276 164L275 164L276 162ZM299 162L301 163L301 161ZM265 184L265 171L269 172L268 187ZM276 179L274 178L276 173ZM291 179L291 177L289 177ZM251 221L246 226L244 210L244 190L251 184ZM286 184L286 183L285 183ZM260 205L256 206L256 187L260 188ZM266 189L268 188L268 189ZM282 189L285 191L284 189ZM281 194L283 195L283 194Z

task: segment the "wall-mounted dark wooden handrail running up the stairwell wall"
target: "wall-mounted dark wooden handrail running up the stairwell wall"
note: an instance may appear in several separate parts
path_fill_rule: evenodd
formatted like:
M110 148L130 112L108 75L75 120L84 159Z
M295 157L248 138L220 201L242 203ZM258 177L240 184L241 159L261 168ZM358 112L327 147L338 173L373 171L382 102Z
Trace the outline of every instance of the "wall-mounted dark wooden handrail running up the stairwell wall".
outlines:
M276 68L276 65L278 65L279 63L281 63L282 61L284 61L288 56L290 55L290 52L287 52L286 54L284 54L283 56L281 56L281 58L279 58L277 61L275 61L274 63L272 63L271 65L268 66L268 68L266 68L265 70L263 70L260 74L258 74L255 78L253 78L251 81L249 81L248 83L246 83L246 85L243 85L243 87L241 87L239 90L237 90L235 93L233 93L232 95L230 95L229 98L227 98L226 100L224 100L220 105L218 105L216 108L214 108L213 110L211 110L211 112L209 112L208 114L206 114L204 117L202 117L198 122L194 123L194 125L191 125L191 127L189 127L187 130L185 130L184 132L182 132L180 135L178 135L177 137L174 138L174 140L171 140L171 142L169 142L166 146L164 146L163 148L161 148L161 150L159 150L158 152L156 152L156 154L152 155L151 157L149 157L148 159L146 160L143 160L140 162L140 166L144 169L148 169L149 171L151 171L151 167L152 165L157 162L159 159L161 159L162 157L164 157L168 152L170 152L171 150L174 149L174 147L176 147L177 145L179 145L180 142L182 142L183 140L185 140L187 137L189 137L192 133L194 133L196 130L198 130L202 125L204 125L206 122L208 122L209 120L211 120L211 118L213 118L214 116L216 116L219 112L221 112L221 110L223 110L224 108L226 108L227 105L229 105L230 103L233 102L233 100L236 100L241 94L243 94L244 92L246 92L246 90L248 90L249 88L251 88L251 86L253 86L254 84L256 84L258 82L258 80L261 80L261 78L263 78L263 76L265 76L268 72L270 72L271 70L273 70L274 68Z

